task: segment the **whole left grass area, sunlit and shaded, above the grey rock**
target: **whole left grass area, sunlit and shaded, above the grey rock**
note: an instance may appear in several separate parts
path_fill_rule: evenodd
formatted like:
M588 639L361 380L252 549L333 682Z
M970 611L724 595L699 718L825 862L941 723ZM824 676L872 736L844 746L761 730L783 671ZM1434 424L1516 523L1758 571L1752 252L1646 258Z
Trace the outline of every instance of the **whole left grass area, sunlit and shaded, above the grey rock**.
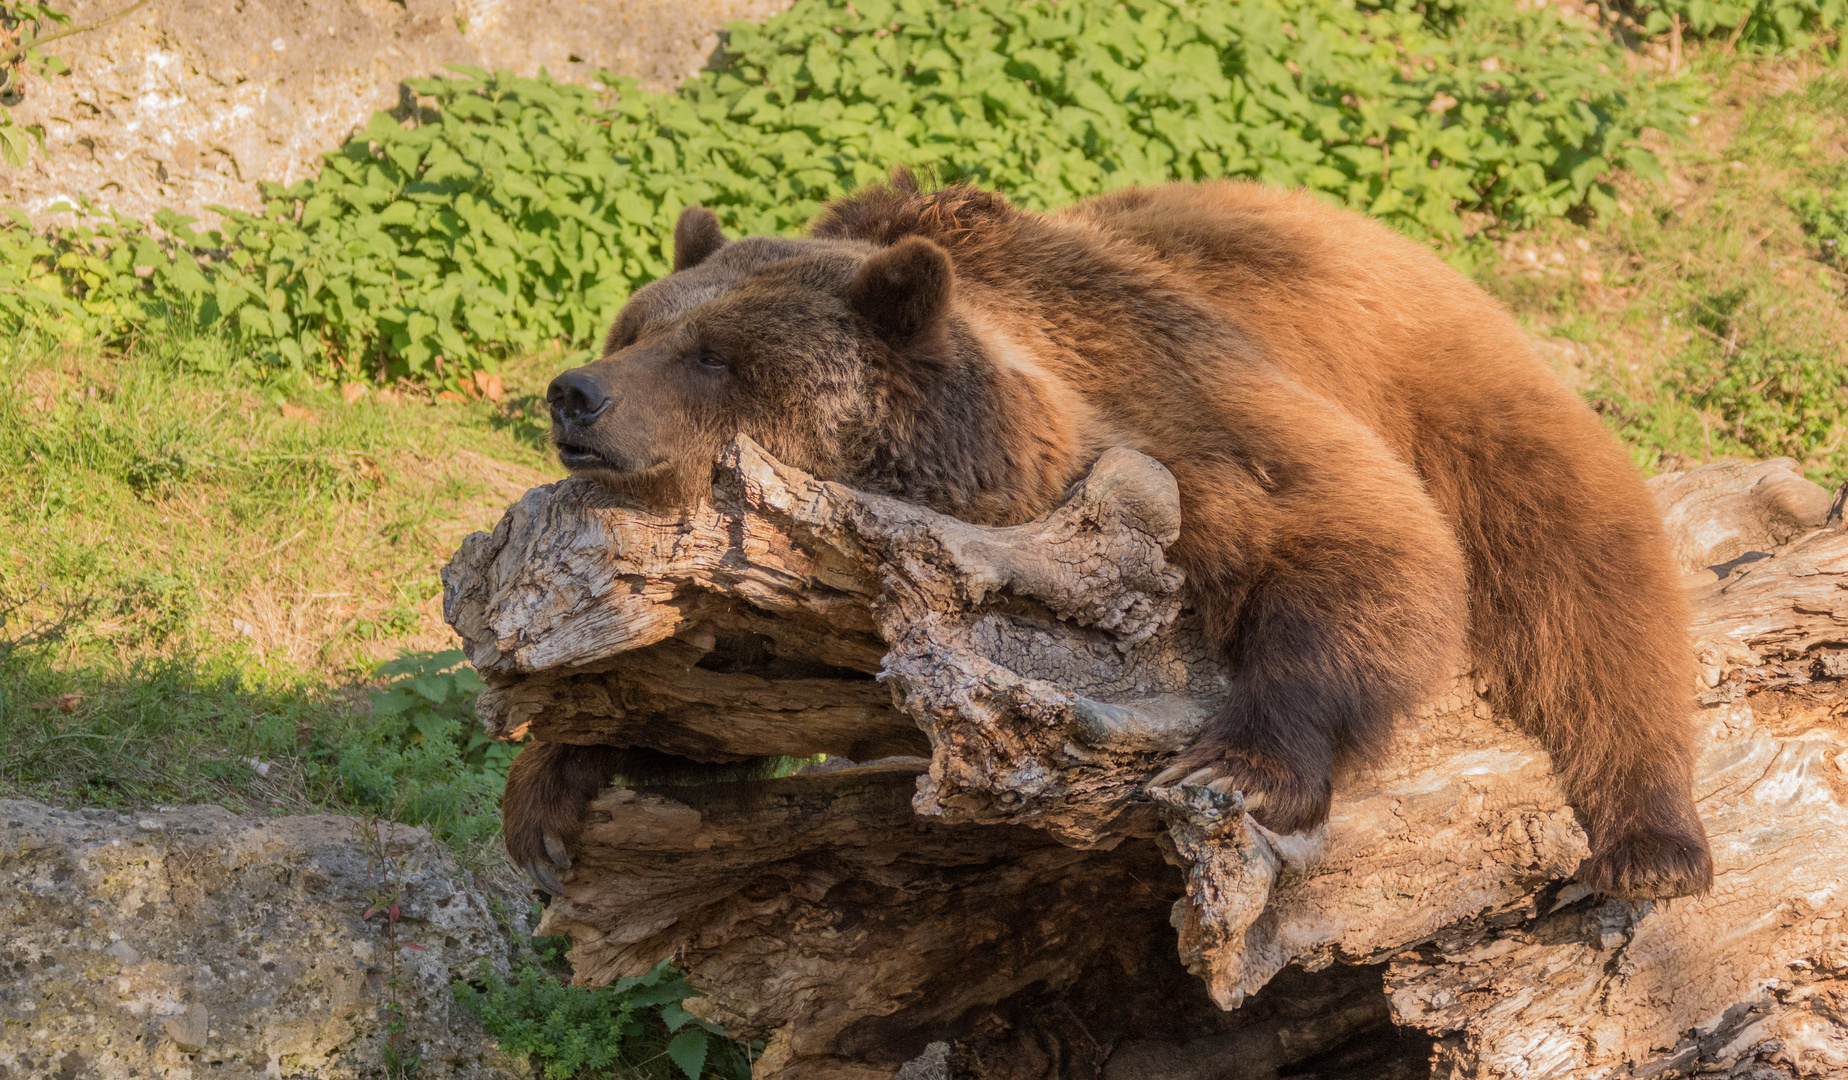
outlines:
M473 693L377 668L453 645L438 568L558 475L525 390L556 359L501 401L347 401L181 359L211 348L0 355L0 793L377 812L492 858Z

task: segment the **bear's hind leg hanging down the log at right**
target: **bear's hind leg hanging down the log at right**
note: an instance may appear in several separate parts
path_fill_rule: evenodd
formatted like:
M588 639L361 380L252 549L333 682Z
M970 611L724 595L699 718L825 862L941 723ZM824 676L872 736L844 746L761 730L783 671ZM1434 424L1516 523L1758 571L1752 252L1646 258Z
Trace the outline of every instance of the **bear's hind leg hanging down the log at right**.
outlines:
M1693 647L1660 510L1576 401L1465 440L1478 669L1552 755L1586 825L1580 880L1632 899L1696 895L1713 856L1693 799Z

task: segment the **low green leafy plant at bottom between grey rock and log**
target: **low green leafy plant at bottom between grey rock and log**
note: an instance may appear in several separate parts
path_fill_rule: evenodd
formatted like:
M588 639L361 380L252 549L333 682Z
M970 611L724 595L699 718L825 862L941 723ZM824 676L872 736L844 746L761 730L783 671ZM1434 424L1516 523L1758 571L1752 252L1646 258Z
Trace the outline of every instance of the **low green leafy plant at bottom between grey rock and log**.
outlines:
M453 989L503 1050L530 1056L547 1080L750 1076L752 1049L689 1013L680 1002L699 991L665 962L601 988L571 986L532 962L503 978L482 962L473 986Z

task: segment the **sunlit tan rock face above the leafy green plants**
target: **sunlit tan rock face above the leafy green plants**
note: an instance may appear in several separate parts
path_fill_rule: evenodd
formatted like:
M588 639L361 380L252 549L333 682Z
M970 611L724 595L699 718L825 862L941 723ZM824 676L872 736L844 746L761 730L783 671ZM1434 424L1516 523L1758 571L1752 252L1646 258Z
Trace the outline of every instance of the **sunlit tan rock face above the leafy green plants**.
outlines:
M131 0L55 4L91 24ZM399 83L444 65L545 68L590 81L602 68L654 89L697 72L719 28L787 0L188 0L155 2L52 46L72 74L28 80L22 124L48 155L0 168L0 203L44 218L89 196L131 216L174 207L257 209L257 181L314 176ZM205 215L209 216L209 215Z

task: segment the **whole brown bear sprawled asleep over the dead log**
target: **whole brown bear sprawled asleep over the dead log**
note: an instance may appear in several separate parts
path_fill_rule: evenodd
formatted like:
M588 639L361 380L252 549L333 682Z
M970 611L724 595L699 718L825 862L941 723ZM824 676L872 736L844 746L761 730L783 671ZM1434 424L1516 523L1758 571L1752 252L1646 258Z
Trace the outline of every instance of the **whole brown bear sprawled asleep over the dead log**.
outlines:
M1552 753L1623 897L1713 878L1691 797L1685 605L1637 470L1515 322L1425 248L1305 192L1127 189L1052 215L909 176L808 239L687 209L675 272L547 390L564 464L689 505L737 433L819 477L1005 525L1111 446L1181 490L1172 557L1236 675L1155 782L1273 830L1467 645ZM556 891L623 751L540 745L506 843Z

